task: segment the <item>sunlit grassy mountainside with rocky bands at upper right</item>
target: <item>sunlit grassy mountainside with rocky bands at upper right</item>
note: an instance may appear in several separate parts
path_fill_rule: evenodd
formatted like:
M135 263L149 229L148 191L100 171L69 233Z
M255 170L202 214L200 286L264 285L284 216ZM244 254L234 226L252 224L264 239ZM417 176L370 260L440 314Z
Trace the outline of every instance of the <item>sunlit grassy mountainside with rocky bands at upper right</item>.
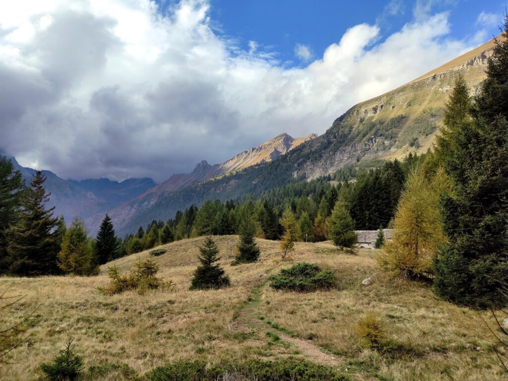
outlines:
M305 146L312 150L324 141L330 143L318 160L307 160L298 173L315 178L358 161L427 151L442 125L444 105L457 75L463 75L474 92L485 78L493 46L491 40L406 85L354 106L327 133Z

